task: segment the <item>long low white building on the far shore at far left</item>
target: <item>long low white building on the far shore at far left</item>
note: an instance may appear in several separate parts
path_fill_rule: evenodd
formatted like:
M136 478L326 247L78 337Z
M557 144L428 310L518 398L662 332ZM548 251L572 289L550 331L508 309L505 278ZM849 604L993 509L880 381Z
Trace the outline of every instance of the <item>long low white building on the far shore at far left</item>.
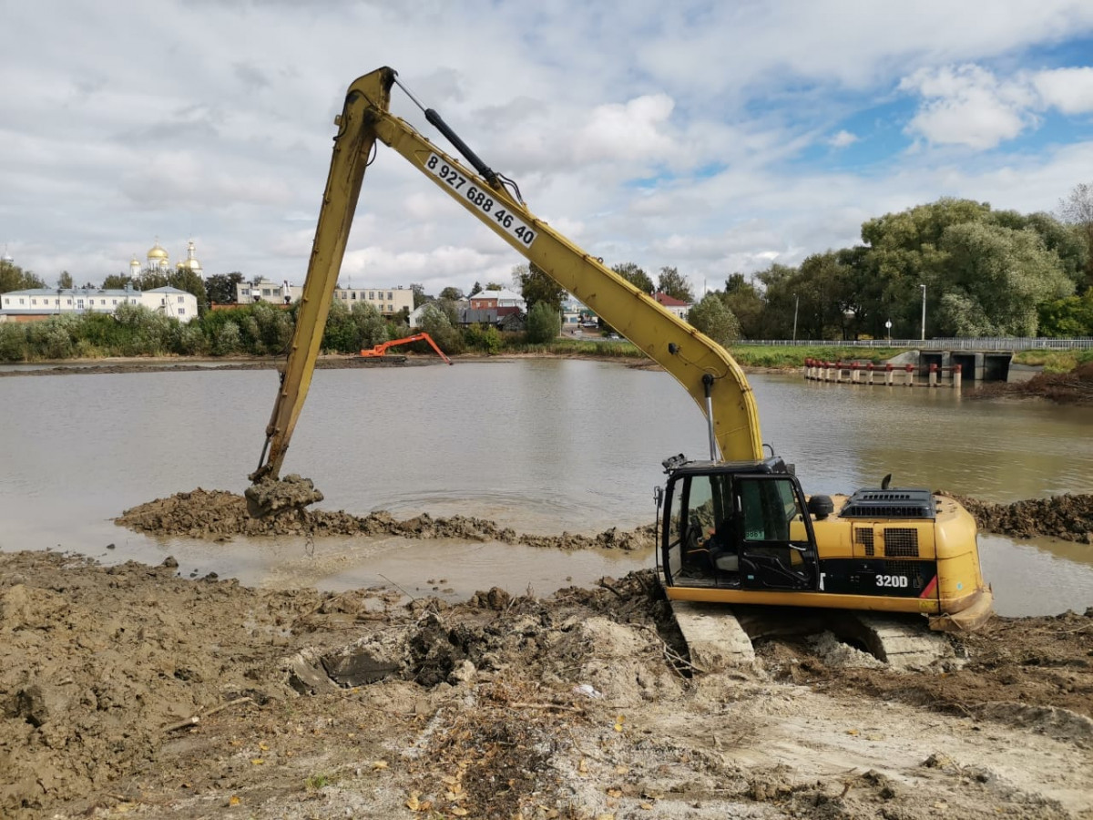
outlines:
M198 315L198 300L177 288L137 291L132 288L34 288L11 291L0 296L0 319L36 321L50 316L79 313L113 314L119 305L144 305L179 321Z

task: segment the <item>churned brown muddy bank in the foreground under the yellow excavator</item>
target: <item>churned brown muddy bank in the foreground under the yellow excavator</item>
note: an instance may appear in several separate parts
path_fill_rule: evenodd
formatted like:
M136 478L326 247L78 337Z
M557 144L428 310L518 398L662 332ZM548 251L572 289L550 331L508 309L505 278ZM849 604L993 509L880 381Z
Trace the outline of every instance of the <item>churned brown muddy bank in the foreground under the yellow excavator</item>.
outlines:
M1093 611L695 675L650 573L458 606L0 553L0 816L1089 817Z

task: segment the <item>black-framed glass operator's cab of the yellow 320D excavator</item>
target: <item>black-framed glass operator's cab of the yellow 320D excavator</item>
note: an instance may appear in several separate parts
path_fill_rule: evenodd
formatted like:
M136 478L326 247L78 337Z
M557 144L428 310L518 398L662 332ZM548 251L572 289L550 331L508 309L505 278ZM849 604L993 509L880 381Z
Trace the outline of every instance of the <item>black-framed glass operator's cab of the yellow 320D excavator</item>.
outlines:
M666 469L660 558L667 586L818 589L804 493L780 458Z

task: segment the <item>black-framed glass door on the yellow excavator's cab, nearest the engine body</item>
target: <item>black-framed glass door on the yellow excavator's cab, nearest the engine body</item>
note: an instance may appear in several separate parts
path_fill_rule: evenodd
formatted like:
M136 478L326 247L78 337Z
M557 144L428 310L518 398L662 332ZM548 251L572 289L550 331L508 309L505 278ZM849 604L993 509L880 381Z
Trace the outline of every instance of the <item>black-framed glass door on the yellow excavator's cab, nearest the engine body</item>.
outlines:
M815 535L797 480L738 475L734 487L741 587L819 589Z

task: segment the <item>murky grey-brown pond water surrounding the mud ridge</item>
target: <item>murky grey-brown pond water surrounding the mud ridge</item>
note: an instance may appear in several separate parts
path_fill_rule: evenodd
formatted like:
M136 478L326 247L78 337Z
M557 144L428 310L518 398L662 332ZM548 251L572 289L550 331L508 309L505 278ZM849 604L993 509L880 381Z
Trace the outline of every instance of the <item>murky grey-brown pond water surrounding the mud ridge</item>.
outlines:
M997 502L1093 492L1089 409L794 376L751 380L764 438L797 464L809 492L877 484L888 472L895 483ZM108 561L173 554L185 574L248 584L387 583L453 597L493 585L544 594L653 561L389 538L314 549L291 539L212 544L110 523L180 490L242 492L275 387L272 371L0 379L0 549ZM317 372L284 471L314 478L322 506L355 514L463 513L520 531L599 531L649 522L660 460L698 457L706 446L697 409L663 373L587 361L459 362ZM983 560L1003 613L1093 606L1093 547L985 536Z

